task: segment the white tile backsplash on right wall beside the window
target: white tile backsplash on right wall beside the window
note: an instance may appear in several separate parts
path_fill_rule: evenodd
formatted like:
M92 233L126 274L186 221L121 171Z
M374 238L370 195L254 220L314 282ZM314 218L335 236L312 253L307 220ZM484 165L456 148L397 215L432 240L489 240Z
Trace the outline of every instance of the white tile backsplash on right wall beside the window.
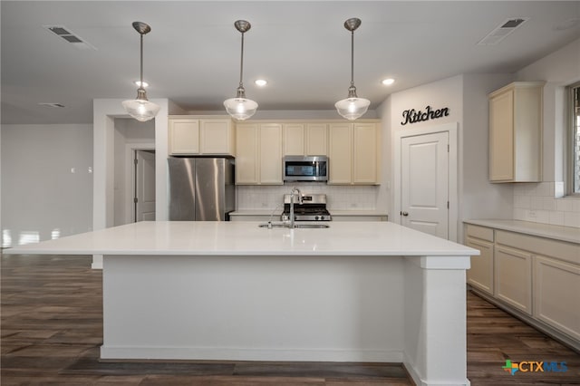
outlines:
M516 184L514 219L580 227L580 198L563 196L563 182Z

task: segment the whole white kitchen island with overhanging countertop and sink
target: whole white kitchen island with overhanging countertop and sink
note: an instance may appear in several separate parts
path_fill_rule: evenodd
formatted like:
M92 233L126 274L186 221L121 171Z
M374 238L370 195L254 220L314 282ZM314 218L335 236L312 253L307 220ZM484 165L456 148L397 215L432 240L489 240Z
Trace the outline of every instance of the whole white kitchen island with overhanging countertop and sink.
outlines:
M140 222L6 253L103 255L105 360L403 362L469 384L478 251L387 222Z

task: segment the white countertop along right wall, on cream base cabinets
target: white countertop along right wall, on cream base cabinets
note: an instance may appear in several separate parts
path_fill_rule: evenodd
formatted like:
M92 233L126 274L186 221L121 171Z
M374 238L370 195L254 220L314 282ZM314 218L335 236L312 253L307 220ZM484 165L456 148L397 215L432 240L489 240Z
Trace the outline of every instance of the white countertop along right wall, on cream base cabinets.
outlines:
M577 227L562 227L519 220L473 219L464 220L463 222L481 227L493 227L531 236L540 236L580 244L580 228Z

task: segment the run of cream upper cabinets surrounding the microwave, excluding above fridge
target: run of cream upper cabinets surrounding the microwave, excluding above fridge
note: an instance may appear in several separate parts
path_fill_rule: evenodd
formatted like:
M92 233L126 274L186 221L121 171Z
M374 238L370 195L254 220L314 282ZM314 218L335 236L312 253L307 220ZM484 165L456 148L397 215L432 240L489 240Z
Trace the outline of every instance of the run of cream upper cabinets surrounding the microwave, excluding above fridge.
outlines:
M377 120L237 123L237 185L282 185L284 156L328 156L329 184L378 185Z

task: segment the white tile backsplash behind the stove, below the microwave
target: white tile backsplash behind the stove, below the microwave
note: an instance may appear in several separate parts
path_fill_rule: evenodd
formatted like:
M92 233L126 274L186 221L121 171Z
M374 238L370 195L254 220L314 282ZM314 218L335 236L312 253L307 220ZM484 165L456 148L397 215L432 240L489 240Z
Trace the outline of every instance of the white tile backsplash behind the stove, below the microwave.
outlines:
M377 186L336 186L316 182L276 186L237 186L237 210L272 209L282 207L283 197L293 187L298 187L303 194L325 193L329 210L376 209Z

